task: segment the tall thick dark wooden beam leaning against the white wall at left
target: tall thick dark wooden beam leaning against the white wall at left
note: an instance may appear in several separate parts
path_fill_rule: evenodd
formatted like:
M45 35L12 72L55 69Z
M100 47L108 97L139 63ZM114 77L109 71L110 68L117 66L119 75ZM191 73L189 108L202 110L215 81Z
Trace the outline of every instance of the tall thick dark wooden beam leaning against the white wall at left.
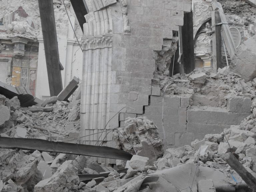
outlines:
M38 0L50 95L62 90L57 33L52 0ZM40 71L39 71L40 72ZM43 82L42 82L43 83Z

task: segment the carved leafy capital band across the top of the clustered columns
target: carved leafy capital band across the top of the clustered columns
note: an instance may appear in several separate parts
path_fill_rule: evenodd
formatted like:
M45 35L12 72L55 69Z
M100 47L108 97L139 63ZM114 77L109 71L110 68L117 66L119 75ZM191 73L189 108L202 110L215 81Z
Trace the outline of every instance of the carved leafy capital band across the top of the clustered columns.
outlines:
M112 47L112 35L95 35L82 37L83 50L89 49L103 49L106 47Z

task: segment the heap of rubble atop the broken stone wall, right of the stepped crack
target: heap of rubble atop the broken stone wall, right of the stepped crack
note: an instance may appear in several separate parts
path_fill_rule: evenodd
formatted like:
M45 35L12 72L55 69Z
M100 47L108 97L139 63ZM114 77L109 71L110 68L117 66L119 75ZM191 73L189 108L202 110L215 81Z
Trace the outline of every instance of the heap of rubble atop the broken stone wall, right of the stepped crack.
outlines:
M157 81L153 82L155 86L161 87L162 92L167 86L165 94L190 96L190 105L226 107L227 98L253 98L256 91L256 79L245 82L240 75L230 72L227 67L219 69L217 73L196 68L184 76L155 76Z

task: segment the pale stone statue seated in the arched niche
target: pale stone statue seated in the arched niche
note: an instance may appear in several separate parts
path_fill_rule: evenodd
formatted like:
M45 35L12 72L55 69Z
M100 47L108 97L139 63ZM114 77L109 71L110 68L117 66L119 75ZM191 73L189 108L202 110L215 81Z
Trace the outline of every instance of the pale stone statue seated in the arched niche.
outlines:
M205 24L205 29L201 30L196 37L195 48L205 47L211 45L213 31L210 23Z

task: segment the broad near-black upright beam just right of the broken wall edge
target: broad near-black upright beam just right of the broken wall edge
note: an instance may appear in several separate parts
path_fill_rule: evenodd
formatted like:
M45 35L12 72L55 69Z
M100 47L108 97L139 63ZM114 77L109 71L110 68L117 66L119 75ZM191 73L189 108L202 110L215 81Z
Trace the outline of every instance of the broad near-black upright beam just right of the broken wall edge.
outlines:
M184 13L184 25L182 33L182 55L184 73L188 74L195 69L194 36L193 36L193 12Z

